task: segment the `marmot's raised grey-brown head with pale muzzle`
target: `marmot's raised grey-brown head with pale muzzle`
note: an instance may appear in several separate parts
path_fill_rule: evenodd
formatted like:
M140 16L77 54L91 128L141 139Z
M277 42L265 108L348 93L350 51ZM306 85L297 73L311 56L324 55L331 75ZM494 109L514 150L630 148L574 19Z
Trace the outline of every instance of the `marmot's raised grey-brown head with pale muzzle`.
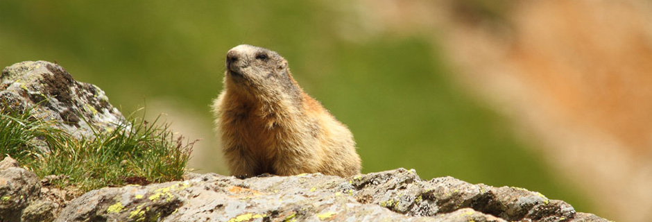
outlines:
M295 94L298 85L287 61L275 51L241 44L226 54L225 84L254 96Z

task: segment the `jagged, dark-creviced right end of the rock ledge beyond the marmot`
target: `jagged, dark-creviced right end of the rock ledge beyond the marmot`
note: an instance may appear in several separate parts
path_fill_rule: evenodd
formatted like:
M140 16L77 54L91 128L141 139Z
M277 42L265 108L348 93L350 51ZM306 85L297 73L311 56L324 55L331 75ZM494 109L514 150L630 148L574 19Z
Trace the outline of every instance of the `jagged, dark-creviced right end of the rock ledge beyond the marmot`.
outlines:
M414 171L397 169L352 179L361 203L374 203L409 216L436 216L469 207L506 221L563 221L574 208L538 192L517 187L472 185L452 177L421 180Z

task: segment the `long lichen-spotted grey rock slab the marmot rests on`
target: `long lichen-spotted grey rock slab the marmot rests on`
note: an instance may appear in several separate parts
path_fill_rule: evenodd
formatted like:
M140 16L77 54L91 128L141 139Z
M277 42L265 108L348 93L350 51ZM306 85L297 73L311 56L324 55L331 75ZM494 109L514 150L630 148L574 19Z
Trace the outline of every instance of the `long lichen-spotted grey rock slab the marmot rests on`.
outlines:
M406 169L351 178L187 178L90 191L56 221L606 221L538 192L451 177L425 181Z

